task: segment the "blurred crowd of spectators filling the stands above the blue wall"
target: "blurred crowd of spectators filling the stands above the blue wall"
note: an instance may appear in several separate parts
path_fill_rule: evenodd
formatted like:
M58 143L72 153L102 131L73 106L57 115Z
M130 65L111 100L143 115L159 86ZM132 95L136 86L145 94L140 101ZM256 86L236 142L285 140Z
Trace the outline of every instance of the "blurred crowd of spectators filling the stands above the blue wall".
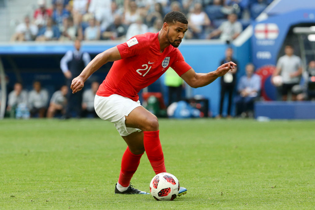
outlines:
M45 0L11 41L127 40L158 32L169 11L186 14L187 39L232 41L272 0ZM51 6L47 6L47 5Z

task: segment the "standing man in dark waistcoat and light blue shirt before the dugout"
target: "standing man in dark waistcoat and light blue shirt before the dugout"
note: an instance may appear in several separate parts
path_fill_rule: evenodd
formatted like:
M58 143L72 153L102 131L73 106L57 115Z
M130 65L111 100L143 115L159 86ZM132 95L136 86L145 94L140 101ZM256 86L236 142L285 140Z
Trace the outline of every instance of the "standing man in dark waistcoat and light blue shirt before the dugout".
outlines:
M70 86L72 79L77 77L91 61L90 55L81 51L80 40L75 40L74 48L74 50L67 51L60 60L60 68L66 77L66 85L69 88L66 113L63 116L65 119L72 117L72 111L75 113L75 116L81 116L82 91L72 94Z

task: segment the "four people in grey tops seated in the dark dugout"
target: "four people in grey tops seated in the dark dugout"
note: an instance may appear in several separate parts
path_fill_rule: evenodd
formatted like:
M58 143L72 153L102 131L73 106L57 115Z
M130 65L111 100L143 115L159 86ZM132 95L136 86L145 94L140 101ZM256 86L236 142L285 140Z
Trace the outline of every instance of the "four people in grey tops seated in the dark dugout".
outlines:
M83 90L81 112L75 117L97 117L94 110L94 97L100 83L92 82L90 88ZM42 88L41 82L34 81L33 89L28 91L22 83L16 82L14 89L8 94L6 116L11 118L30 117L63 117L68 104L67 94L69 88L66 85L59 90L49 93Z

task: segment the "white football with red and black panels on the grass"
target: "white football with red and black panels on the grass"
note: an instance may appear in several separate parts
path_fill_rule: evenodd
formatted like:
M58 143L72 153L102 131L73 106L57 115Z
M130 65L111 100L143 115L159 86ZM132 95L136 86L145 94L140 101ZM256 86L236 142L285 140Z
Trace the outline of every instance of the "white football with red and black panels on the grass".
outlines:
M150 193L158 201L173 201L179 188L178 179L170 173L159 173L150 182Z

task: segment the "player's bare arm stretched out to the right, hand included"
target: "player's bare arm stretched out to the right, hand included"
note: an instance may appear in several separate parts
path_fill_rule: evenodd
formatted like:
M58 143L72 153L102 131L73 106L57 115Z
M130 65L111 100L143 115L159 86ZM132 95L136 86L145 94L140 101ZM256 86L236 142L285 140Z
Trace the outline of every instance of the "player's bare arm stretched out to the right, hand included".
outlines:
M236 64L232 61L219 66L215 71L209 73L196 73L192 68L182 74L180 77L192 88L199 88L210 84L218 77L225 75L233 70Z

